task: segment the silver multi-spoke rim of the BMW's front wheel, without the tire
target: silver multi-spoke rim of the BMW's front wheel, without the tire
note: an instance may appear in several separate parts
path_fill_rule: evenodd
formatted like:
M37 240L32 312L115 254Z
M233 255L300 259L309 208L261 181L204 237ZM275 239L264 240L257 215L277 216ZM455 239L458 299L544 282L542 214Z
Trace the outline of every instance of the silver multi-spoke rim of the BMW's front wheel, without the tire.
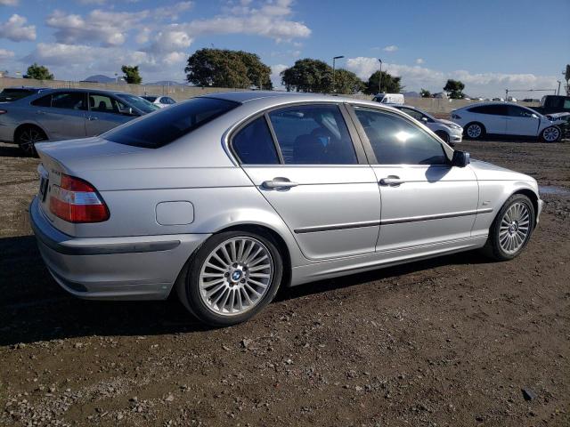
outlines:
M516 254L523 246L531 230L530 211L524 203L510 205L501 219L499 244L507 254Z

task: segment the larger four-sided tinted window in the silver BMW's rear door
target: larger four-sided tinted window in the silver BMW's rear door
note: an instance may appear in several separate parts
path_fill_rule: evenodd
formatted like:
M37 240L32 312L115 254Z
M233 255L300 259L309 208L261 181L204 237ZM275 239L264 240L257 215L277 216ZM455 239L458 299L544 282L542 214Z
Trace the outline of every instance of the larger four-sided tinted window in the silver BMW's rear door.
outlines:
M336 105L303 105L269 114L286 165L356 165L353 141Z

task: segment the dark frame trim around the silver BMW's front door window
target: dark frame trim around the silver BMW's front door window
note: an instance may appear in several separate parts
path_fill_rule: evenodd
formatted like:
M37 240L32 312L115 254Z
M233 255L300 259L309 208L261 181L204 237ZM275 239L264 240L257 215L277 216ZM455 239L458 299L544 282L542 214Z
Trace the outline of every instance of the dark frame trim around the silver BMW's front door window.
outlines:
M404 164L404 163L398 163L398 164L394 164L394 165L379 164L378 158L376 157L376 153L374 152L374 149L372 149L371 141L368 139L368 135L364 131L364 128L362 127L362 124L360 123L360 120L356 116L356 112L354 111L354 107L361 108L361 109L371 109L371 110L374 110L380 114L395 116L395 117L401 118L402 120L408 122L408 124L417 127L420 132L425 133L429 138L434 140L436 143L438 143L444 149L444 154L445 154L445 157L447 157L448 163L445 165L410 165L410 164ZM424 129L422 129L419 125L416 125L415 123L413 123L410 120L410 118L405 117L405 113L403 111L400 111L399 109L397 111L392 111L391 109L390 110L382 109L382 108L378 108L376 106L360 104L360 103L356 103L356 102L346 103L346 111L350 115L350 117L353 121L354 127L356 128L356 132L360 136L360 140L362 141L362 145L364 146L364 151L366 152L366 157L368 157L370 165L372 165L374 167L398 167L398 166L413 167L413 166L418 166L418 167L423 167L423 168L434 167L434 166L447 166L447 167L449 167L451 165L454 150L449 145L447 145L445 142L438 141L437 137L434 137L433 135L431 135L430 133L428 133Z

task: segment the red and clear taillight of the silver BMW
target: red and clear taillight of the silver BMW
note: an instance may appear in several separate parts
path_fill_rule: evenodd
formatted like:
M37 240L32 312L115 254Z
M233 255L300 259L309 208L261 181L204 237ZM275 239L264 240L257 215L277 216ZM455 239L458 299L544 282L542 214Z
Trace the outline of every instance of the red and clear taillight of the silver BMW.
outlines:
M109 209L86 181L62 174L60 185L52 185L50 211L67 222L102 222L109 219Z

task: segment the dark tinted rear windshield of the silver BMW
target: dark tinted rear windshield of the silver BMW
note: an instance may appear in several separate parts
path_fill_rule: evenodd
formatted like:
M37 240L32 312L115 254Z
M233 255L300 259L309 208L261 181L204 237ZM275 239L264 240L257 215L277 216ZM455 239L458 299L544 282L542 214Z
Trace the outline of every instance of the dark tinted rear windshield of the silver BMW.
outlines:
M194 98L104 133L102 138L134 147L158 149L239 105L214 98Z

